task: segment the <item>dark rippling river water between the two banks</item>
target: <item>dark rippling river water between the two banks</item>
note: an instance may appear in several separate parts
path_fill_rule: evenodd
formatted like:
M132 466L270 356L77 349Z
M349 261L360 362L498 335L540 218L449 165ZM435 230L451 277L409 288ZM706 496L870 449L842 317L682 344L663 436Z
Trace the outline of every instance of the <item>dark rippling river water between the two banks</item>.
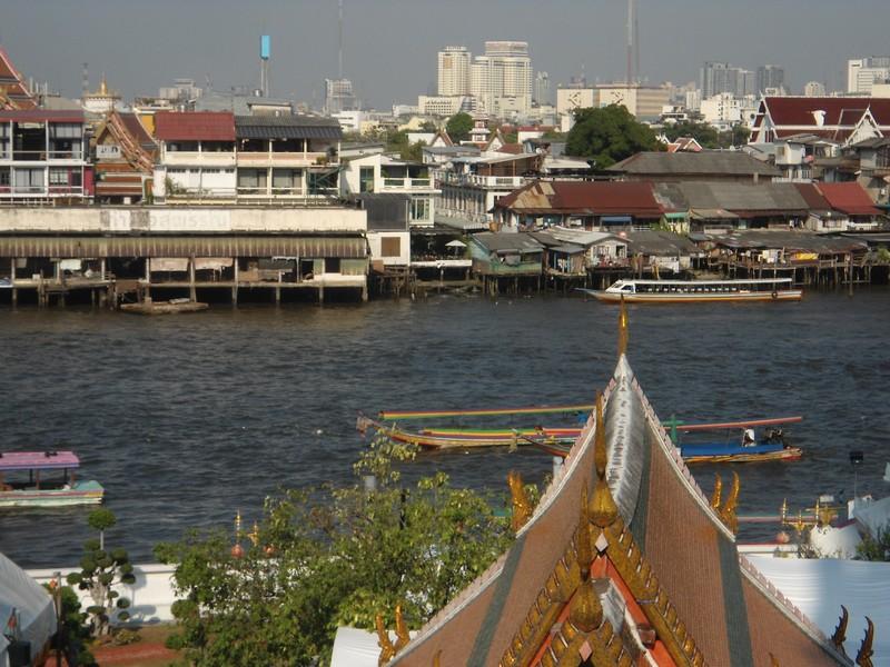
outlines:
M859 490L890 492L886 288L630 311L629 358L662 419L804 416L803 460L734 468L741 511L851 495L851 449L864 451ZM592 401L614 367L616 315L581 298L446 296L159 318L0 310L0 448L77 451L118 517L108 539L147 561L188 527L230 527L238 509L251 522L283 485L350 482L358 410ZM434 468L505 489L511 468L540 480L551 459L488 450L413 465ZM715 468L693 471L710 489ZM75 565L89 511L0 509L0 551Z

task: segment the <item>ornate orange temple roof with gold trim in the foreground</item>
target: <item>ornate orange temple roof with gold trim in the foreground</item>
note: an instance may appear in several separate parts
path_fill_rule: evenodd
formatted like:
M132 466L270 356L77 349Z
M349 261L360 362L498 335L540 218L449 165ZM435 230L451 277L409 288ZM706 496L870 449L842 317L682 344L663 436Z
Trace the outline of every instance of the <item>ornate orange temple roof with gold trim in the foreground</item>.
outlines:
M739 556L738 478L705 498L623 355L600 406L511 549L392 664L850 665Z

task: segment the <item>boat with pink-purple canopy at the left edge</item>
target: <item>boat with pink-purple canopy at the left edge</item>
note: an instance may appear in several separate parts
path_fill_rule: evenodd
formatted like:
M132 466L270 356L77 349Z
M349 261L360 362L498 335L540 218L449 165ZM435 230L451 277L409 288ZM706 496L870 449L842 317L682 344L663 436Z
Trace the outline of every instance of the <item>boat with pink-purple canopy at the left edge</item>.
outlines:
M0 454L0 507L59 507L102 501L98 481L75 480L80 460L71 451ZM53 472L60 475L53 476Z

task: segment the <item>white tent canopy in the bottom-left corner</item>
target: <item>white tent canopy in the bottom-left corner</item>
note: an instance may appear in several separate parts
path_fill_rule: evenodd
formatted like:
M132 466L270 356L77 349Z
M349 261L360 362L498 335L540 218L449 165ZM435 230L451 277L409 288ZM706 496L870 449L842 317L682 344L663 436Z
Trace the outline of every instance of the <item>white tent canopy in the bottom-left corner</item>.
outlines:
M31 643L31 657L56 634L56 606L46 588L0 554L0 666L9 664L9 641L2 636L12 610L17 615L17 638Z

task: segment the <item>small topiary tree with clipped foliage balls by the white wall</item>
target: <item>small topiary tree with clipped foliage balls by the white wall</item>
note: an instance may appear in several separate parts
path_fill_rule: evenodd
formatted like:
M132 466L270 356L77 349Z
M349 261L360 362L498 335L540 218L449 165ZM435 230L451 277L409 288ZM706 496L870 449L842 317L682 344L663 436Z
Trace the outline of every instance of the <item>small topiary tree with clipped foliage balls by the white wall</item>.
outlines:
M110 552L105 549L105 531L117 522L113 512L110 509L97 509L90 512L87 522L99 531L99 539L83 544L80 571L68 575L68 584L89 593L93 603L87 607L89 625L93 637L100 637L111 631L111 614L115 609L118 620L129 619L127 608L130 601L121 597L115 586L132 584L136 577L126 549Z

